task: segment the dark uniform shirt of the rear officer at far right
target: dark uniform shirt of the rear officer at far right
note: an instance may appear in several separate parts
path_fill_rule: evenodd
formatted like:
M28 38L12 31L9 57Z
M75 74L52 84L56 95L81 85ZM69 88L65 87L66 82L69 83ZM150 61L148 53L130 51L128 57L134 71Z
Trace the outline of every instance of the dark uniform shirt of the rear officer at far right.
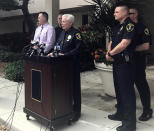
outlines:
M151 42L151 34L149 29L142 23L137 23L136 24L136 35L137 35L137 45L141 45L144 43L150 43Z

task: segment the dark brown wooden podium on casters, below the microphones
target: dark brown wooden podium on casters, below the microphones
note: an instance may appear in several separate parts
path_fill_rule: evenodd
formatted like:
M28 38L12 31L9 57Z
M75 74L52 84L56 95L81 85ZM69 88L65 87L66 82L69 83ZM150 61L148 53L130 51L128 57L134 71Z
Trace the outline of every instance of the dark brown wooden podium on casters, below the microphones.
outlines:
M72 58L24 58L24 112L53 130L59 122L70 122L73 117Z

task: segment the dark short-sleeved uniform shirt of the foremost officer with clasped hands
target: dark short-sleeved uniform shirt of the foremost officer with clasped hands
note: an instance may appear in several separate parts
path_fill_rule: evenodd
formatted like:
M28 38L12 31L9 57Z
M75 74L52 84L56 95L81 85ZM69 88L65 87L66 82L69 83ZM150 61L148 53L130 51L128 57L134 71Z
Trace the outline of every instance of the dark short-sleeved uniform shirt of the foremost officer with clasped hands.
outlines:
M135 23L132 22L130 18L127 18L122 24L118 24L112 33L112 45L111 49L116 47L122 39L131 39L130 45L127 47L128 52L132 52L135 50L136 42L135 42Z

